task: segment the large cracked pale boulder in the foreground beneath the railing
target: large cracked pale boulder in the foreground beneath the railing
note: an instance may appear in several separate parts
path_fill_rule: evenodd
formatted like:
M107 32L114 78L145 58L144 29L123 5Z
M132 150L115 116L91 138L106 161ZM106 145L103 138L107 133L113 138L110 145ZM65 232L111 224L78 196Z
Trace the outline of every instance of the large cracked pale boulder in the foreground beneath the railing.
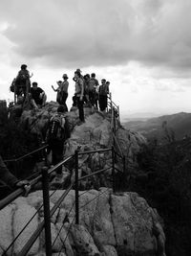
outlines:
M63 192L50 192L53 194L51 208ZM42 192L37 191L28 198L16 199L0 212L1 253L41 204ZM70 256L165 255L165 236L159 215L136 193L114 195L106 188L80 192L79 224L74 224L74 216L74 191L70 191L52 217L53 253ZM42 217L41 208L7 255L16 255L22 249ZM45 255L44 242L43 232L29 255Z

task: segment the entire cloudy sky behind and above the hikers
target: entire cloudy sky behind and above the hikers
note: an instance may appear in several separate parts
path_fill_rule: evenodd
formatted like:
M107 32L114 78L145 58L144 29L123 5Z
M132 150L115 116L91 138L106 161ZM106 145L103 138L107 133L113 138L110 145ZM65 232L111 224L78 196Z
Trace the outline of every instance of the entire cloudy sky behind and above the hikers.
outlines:
M190 0L1 0L0 99L26 63L51 85L74 70L111 81L121 116L191 112Z

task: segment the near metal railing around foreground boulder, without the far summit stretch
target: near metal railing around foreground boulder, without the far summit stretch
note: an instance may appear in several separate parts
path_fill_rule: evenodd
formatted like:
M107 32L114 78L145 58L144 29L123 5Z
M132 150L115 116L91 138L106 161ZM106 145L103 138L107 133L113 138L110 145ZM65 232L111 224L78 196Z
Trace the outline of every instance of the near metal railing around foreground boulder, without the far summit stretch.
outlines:
M97 170L96 172L89 174L89 175L84 175L84 176L78 176L78 169L79 169L79 164L78 164L78 158L83 155L83 154L94 154L94 153L105 153L105 152L109 152L111 153L111 158L110 160L112 161L112 164L109 168L105 168L105 169L100 169ZM55 213L56 209L60 206L61 202L67 197L67 195L69 194L69 192L74 189L74 195L75 195L75 200L74 200L74 220L75 223L78 224L79 223L79 214L80 214L80 207L79 207L79 182L81 180L90 178L93 175L100 175L106 171L108 171L109 169L112 170L112 179L113 179L113 191L116 191L116 172L118 171L117 168L115 167L115 158L116 158L116 151L114 148L110 148L110 149L104 149L104 150L97 150L97 151L75 151L74 155L69 156L68 158L64 159L63 161L61 161L60 163L58 163L57 165L53 166L53 168L48 169L47 167L44 167L42 169L42 174L38 175L37 177L33 178L31 180L31 186L33 187L35 184L37 184L38 182L42 182L42 190L43 190L43 205L44 206L44 221L40 222L38 225L38 228L35 230L35 232L32 234L31 238L29 238L28 243L25 244L23 246L23 248L21 249L21 251L17 254L19 256L22 255L27 255L27 253L30 251L32 244L34 244L34 242L36 241L36 239L39 237L40 233L42 232L43 229L45 229L45 247L46 247L46 255L52 255L52 236L51 236L51 217L53 216L53 214ZM52 210L50 210L50 198L52 197L52 195L50 196L50 189L49 189L49 182L50 182L50 175L53 174L54 171L56 171L57 168L59 168L62 165L67 164L69 161L73 160L73 166L74 166L74 181L71 181L70 185L67 187L67 189L64 191L63 195L61 196L61 198L59 198L56 203L54 204ZM11 201L15 198L18 198L19 196L21 196L23 193L22 189L18 189L16 190L14 193L12 193L8 198L5 198L3 200L0 201L0 209L4 208L6 205L8 205L9 203L11 203ZM54 193L54 192L53 192ZM95 198L96 199L96 198ZM39 210L39 209L38 209ZM72 211L72 209L71 209ZM36 211L35 215L37 214L38 211ZM33 218L33 217L32 217ZM74 221L73 220L73 221ZM32 220L30 220L32 221ZM29 221L29 223L30 223ZM27 223L25 228L27 227L27 225L29 224ZM73 223L71 223L72 225ZM22 234L21 230L21 234ZM70 232L70 230L68 230L68 233ZM18 234L19 236L20 234ZM17 239L17 237L15 238L15 240ZM7 248L7 250L5 250L3 255L6 255L6 252L9 251L11 249L12 244L15 242L15 240L10 244L10 246ZM55 242L53 242L55 243Z

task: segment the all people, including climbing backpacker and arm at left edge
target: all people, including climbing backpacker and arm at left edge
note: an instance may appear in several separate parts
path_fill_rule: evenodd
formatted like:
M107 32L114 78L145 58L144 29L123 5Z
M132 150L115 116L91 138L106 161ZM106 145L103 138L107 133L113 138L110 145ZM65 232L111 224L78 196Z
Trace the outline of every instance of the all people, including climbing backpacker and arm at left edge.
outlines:
M100 111L105 111L107 107L107 96L109 94L109 85L110 82L105 79L101 80L99 85L96 80L96 74L92 73L82 75L80 69L74 71L74 96L73 96L73 106L76 106L79 111L79 119L84 122L84 104L92 106L95 109ZM47 95L45 91L38 87L36 81L32 82L31 85L30 72L27 69L27 65L21 65L21 69L18 72L16 78L12 81L11 91L14 92L16 97L16 102L19 101L24 104L26 101L33 108L38 108L45 105L47 100ZM68 111L66 101L68 98L68 88L69 81L67 74L62 76L63 81L57 81L57 87L53 91L57 92L56 102L59 104L57 108L57 113L50 120L50 128L47 130L47 143L49 145L48 151L53 151L53 161L52 164L55 165L62 160L63 153L63 141L70 137L70 130L68 128L67 122L65 120L64 112ZM13 87L13 89L12 89ZM21 100L22 99L22 100ZM59 125L57 125L60 123ZM56 128L57 126L57 128ZM56 131L56 133L54 133ZM63 136L64 135L64 136ZM31 189L30 183L28 180L19 180L14 175L11 175L6 165L3 162L3 159L0 155L0 173L1 180L6 182L11 188L21 188L25 189L25 192L28 192ZM57 170L57 175L61 174L61 169Z

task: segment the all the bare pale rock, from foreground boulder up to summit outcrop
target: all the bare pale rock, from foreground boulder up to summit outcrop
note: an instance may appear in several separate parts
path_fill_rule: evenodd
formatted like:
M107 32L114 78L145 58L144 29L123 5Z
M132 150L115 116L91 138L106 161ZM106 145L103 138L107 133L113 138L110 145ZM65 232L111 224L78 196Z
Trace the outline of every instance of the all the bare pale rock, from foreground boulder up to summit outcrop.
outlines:
M23 111L20 122L26 129L38 135L39 140L45 138L50 118L55 114L57 106L51 102L43 108ZM90 107L84 107L85 123L80 123L78 110L73 107L65 113L71 130L71 136L64 145L64 157L74 151L94 151L107 149L117 143L123 152L128 165L136 165L136 155L145 138L138 132L123 128L116 121L116 139L112 133L111 113L101 113ZM116 140L116 141L115 141ZM87 175L112 165L109 152L95 153L91 157L85 154L79 157L79 176ZM51 156L49 156L51 157ZM121 168L118 161L117 168ZM64 173L71 175L71 170L63 167ZM63 177L62 175L62 177ZM111 189L111 170L101 179L81 182L79 188L79 224L74 224L74 190L61 202L52 217L53 255L69 256L164 256L165 235L162 221L156 209L152 209L144 198L137 193L118 192ZM56 177L56 179L59 179ZM127 179L126 179L127 180ZM55 180L54 180L55 181ZM52 185L53 182L52 181ZM59 180L58 180L59 183ZM98 185L97 185L98 183ZM55 182L54 182L55 184ZM53 189L53 186L51 186ZM64 193L50 191L51 208ZM17 198L9 206L0 211L0 253L11 244L24 225L42 205L41 189L32 192L27 198ZM28 228L11 246L7 255L17 255L32 232L43 220L43 209L32 219ZM44 248L44 232L33 244L29 255L46 255Z

